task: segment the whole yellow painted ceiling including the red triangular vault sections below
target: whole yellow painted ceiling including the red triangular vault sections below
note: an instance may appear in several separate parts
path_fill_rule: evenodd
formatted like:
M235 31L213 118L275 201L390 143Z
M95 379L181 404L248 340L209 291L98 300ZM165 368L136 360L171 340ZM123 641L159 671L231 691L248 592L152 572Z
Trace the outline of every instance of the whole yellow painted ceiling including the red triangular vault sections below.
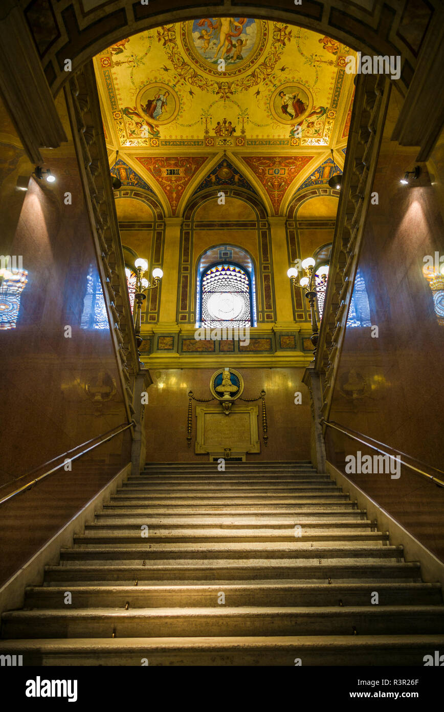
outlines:
M352 53L300 27L245 18L125 38L95 57L110 164L119 150L120 177L132 174L179 215L205 182L220 182L226 160L235 183L283 214L298 189L344 165Z

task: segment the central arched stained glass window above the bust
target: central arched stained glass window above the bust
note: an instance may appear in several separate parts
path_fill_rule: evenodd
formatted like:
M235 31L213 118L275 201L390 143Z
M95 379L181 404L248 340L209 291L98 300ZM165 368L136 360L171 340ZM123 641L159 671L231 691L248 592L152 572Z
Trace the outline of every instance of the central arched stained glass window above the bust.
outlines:
M251 325L250 279L237 265L220 263L202 276L202 318L206 328Z

